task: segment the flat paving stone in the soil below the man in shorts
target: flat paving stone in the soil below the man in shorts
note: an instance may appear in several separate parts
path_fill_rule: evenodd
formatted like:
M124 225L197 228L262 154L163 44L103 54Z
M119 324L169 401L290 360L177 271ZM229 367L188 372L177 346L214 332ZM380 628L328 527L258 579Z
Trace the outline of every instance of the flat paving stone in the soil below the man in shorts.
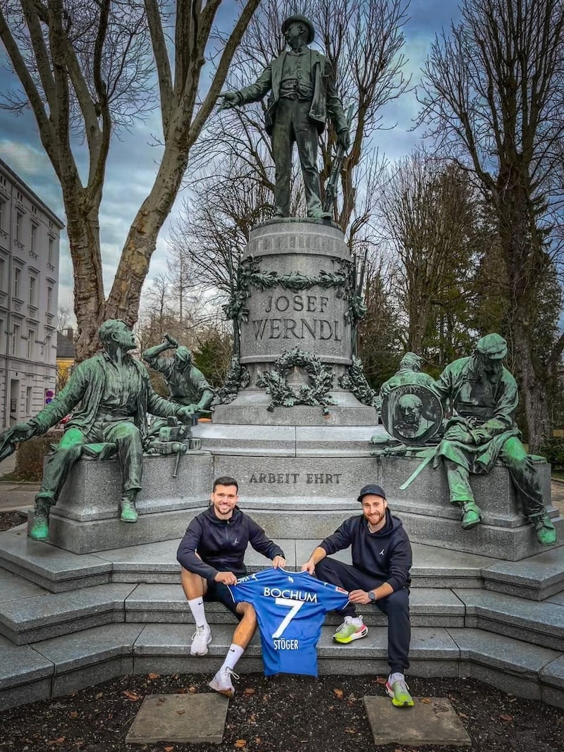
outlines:
M229 699L217 692L147 695L126 744L221 744Z

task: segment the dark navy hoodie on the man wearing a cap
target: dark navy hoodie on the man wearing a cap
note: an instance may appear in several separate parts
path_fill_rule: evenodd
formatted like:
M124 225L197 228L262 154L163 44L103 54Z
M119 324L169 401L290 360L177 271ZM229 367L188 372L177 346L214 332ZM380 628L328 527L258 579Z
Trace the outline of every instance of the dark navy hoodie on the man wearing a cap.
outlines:
M378 532L368 530L364 514L349 517L332 535L321 541L330 556L352 547L353 566L374 580L387 582L393 590L409 587L411 578L411 544L402 520L386 510L386 524Z

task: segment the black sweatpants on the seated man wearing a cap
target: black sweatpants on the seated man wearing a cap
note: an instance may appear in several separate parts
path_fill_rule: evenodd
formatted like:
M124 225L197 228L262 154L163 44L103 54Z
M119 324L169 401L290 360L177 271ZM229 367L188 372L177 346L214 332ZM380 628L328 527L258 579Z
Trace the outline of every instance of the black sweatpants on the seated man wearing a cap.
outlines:
M372 575L360 572L350 564L344 564L326 556L315 566L315 574L320 580L338 585L344 590L374 590L382 583L374 581ZM404 674L409 668L409 643L411 641L411 623L409 621L409 590L395 590L390 596L374 603L388 617L388 663L390 674ZM356 608L349 603L340 614L356 617Z

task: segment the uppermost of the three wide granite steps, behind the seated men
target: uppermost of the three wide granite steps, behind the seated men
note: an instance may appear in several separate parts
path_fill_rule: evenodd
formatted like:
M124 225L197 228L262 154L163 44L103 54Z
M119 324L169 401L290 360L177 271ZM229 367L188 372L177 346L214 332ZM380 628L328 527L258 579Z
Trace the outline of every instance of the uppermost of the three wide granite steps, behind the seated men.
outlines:
M180 578L176 561L179 539L150 545L127 546L97 553L76 554L26 538L25 526L0 532L0 567L53 593L99 584L140 582L175 584ZM319 543L318 539L278 538L287 557L287 569L299 569ZM564 547L544 550L519 562L491 556L412 544L412 587L481 588L532 600L544 600L564 590ZM350 550L335 558L350 562ZM269 566L252 548L245 556L250 572Z

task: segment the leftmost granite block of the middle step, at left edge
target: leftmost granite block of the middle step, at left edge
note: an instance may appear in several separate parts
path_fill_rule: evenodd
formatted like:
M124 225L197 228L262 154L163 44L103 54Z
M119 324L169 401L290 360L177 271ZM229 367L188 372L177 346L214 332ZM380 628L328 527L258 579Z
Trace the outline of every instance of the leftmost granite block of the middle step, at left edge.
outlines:
M0 605L0 632L16 644L35 642L80 629L125 621L130 584L108 584L48 593Z

